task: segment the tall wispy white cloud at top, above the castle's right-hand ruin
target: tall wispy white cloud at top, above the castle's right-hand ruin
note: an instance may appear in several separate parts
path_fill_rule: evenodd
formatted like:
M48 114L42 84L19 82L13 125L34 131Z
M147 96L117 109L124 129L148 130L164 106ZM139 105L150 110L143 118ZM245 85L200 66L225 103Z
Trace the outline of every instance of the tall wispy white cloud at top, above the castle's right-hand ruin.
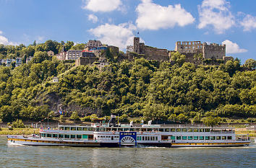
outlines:
M198 6L199 25L202 29L212 25L215 32L222 34L225 30L235 25L234 16L229 11L229 2L226 0L204 0Z

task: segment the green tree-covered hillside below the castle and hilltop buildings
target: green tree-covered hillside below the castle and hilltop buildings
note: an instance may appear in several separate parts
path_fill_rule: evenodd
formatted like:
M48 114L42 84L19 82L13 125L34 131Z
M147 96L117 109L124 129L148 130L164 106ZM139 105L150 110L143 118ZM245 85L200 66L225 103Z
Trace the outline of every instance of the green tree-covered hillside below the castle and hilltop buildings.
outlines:
M197 122L205 116L256 117L256 71L249 61L245 66L252 69L248 70L237 59L221 66L195 67L140 58L111 62L101 70L96 66L72 68L74 64L47 55L47 50L58 53L59 43L46 46L9 51L8 46L0 47L1 57L33 56L16 68L0 66L1 120L41 120L58 110L76 111L81 116L115 112L182 122L189 118ZM51 82L54 76L59 76L58 83Z

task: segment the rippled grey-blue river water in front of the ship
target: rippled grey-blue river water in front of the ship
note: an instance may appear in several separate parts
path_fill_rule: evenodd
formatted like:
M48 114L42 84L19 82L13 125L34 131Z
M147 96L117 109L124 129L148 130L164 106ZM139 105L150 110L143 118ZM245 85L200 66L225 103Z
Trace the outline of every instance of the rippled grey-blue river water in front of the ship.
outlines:
M231 148L16 146L0 137L0 167L256 167L256 144Z

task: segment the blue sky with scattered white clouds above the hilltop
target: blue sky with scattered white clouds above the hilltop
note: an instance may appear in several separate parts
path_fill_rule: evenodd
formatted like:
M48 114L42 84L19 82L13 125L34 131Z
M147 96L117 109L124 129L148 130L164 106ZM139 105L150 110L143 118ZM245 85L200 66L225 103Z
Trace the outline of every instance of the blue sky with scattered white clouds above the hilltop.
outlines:
M0 44L101 40L125 50L174 50L176 41L226 44L226 56L256 59L255 0L0 0ZM139 33L139 34L138 34Z

